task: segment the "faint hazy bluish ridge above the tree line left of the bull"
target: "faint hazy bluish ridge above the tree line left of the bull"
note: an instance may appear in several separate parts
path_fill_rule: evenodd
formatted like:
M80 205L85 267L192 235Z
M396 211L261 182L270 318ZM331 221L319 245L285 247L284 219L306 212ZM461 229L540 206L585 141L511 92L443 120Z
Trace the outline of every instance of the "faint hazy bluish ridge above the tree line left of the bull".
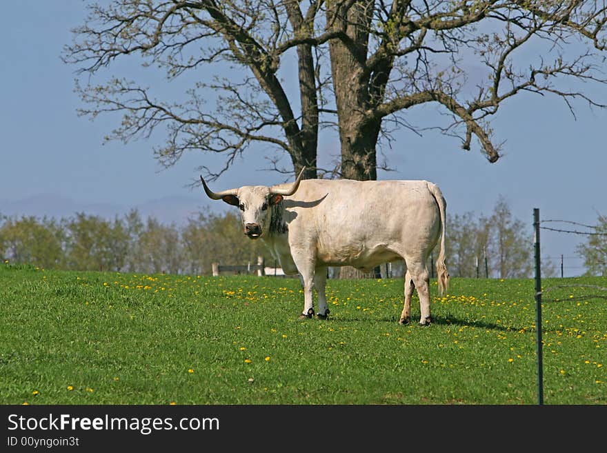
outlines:
M120 205L117 203L86 203L68 197L57 195L38 195L19 200L1 200L0 214L6 216L34 216L34 217L74 217L77 212L89 215L98 215L106 219L122 216L131 209L137 208L143 219L155 217L161 223L183 224L188 217L198 212L218 212L217 208L210 210L210 206L200 197L162 197L140 203L139 205Z

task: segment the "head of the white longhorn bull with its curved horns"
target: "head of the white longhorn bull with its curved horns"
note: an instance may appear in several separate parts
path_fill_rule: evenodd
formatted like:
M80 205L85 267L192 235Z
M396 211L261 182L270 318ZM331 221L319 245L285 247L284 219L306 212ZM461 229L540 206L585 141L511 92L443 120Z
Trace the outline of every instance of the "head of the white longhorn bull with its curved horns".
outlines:
M267 187L265 185L245 185L239 189L223 190L223 192L212 192L204 182L202 176L200 181L207 196L212 200L223 200L229 205L238 206L240 209L244 234L250 239L257 239L270 228L272 219L272 206L277 205L283 197L289 197L299 188L299 182L304 175L303 168L295 183L290 188L280 189Z

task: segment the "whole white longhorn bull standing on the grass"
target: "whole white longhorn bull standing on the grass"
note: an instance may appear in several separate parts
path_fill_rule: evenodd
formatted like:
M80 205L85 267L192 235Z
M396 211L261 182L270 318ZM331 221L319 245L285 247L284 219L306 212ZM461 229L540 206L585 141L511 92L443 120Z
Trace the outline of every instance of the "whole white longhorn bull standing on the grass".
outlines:
M430 317L428 256L440 241L436 261L439 291L446 292L446 202L437 185L428 181L352 181L307 179L272 187L246 185L212 192L241 210L244 234L264 241L285 274L304 280L304 312L314 315L312 289L318 297L318 314L326 319L325 294L328 266L351 265L364 272L404 259L404 308L399 323L410 321L411 295L417 288L421 316Z

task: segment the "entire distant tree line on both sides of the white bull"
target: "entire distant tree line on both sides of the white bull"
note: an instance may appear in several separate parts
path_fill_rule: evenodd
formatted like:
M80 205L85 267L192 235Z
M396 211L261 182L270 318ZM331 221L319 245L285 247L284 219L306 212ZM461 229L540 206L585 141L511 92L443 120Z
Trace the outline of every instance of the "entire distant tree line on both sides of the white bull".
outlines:
M210 274L211 263L255 263L270 253L261 241L243 237L237 214L202 214L183 225L166 225L137 210L104 219L84 213L60 220L0 217L0 256L13 263L47 269L100 270L170 274ZM599 216L597 232L607 233ZM527 223L513 217L500 198L489 215L448 215L448 268L452 276L524 278L533 275L533 238ZM607 275L607 234L594 234L578 247L588 274ZM392 276L402 272L392 266ZM331 272L333 276L337 272ZM555 265L542 263L542 274L554 276Z

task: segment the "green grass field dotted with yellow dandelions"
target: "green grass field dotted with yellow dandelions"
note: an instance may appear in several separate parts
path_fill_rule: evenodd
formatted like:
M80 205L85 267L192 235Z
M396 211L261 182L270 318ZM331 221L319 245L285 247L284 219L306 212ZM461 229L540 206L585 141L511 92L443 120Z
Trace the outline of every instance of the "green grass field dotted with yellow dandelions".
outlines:
M606 279L546 279L600 285ZM59 272L0 264L2 404L535 404L533 280L432 281L429 328L398 325L402 279ZM543 304L544 403L607 403L607 301ZM603 292L605 294L605 292Z

